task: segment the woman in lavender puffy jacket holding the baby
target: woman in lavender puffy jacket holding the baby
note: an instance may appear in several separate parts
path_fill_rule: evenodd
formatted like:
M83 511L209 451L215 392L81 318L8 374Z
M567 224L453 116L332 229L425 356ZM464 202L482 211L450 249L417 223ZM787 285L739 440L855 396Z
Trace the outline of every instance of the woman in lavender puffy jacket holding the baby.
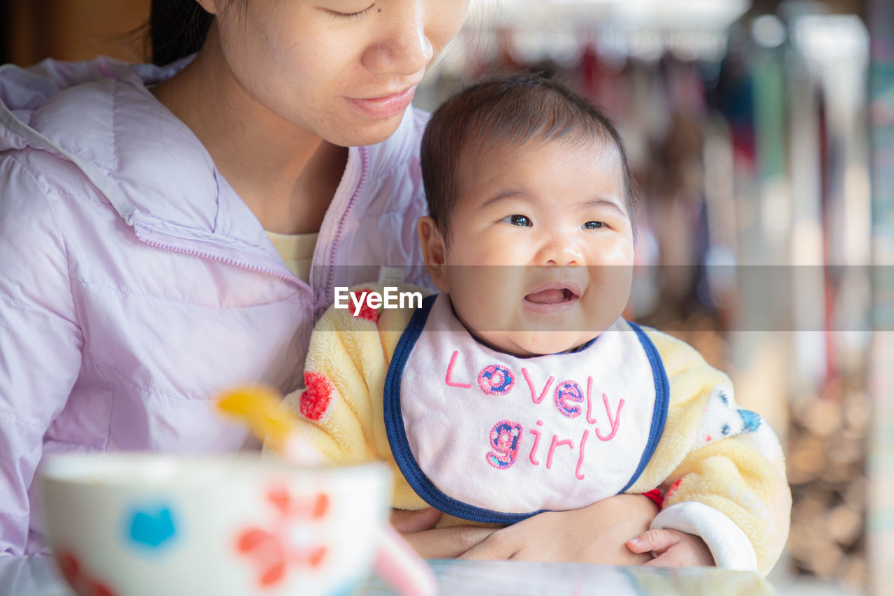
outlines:
M161 65L0 70L0 552L44 550L45 454L238 449L209 396L299 387L335 285L422 280L407 107L467 4L153 0ZM640 560L654 506L600 506L394 521L429 557Z

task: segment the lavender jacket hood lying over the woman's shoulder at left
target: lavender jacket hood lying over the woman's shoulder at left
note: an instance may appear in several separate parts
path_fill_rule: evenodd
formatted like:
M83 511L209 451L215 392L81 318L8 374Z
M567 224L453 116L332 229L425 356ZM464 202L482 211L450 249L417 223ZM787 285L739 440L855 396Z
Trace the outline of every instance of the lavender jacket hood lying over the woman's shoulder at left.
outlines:
M205 147L147 89L189 61L4 65L0 151L38 149L72 162L141 237L209 242L277 263L257 218Z

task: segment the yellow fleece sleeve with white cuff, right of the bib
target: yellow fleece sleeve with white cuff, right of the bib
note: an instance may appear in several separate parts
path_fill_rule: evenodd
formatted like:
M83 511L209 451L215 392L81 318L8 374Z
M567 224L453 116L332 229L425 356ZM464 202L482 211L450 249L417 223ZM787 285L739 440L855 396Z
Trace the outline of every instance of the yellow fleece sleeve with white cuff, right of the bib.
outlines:
M653 528L700 536L718 566L766 575L789 535L779 439L735 403L730 379L692 347L649 330L671 386L664 433L630 492L665 490Z

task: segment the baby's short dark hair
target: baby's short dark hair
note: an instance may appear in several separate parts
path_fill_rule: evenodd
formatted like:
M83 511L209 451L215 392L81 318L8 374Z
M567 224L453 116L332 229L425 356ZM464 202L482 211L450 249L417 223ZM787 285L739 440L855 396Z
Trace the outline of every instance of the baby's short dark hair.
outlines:
M461 170L482 143L518 147L528 140L595 142L618 151L624 203L636 233L636 188L620 134L586 98L543 74L518 74L478 82L445 101L422 137L422 180L428 213L445 240L460 194ZM482 156L473 156L481 158Z

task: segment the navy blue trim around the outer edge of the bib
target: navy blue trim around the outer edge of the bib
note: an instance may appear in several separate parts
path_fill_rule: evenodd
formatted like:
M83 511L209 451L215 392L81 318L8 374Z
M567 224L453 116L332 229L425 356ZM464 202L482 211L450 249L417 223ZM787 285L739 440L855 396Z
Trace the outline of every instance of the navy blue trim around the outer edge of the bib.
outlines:
M401 335L397 347L394 349L392 362L388 366L388 373L385 376L384 385L384 423L385 431L388 435L388 444L391 446L394 461L407 479L410 488L416 491L416 494L423 498L431 507L434 507L448 515L455 515L461 519L481 524L515 524L523 519L527 519L532 515L543 513L543 509L532 511L530 513L510 514L500 511L485 509L484 507L475 507L468 505L455 498L448 497L440 489L434 486L424 472L419 468L416 458L413 456L409 448L409 440L407 439L407 430L403 426L403 414L401 412L401 379L403 378L403 369L409 360L409 354L413 351L413 346L419 336L422 334L423 328L426 326L428 314L432 310L437 294L426 296L422 301L422 308L413 313L409 319L409 325ZM662 437L664 430L664 421L667 419L668 403L670 399L670 385L667 379L667 373L664 371L661 357L652 341L645 335L645 332L637 325L630 323L630 326L637 332L637 337L645 349L649 363L652 365L652 372L655 379L655 407L652 416L652 429L649 432L649 440L646 444L643 456L640 458L637 471L630 478L627 485L620 492L627 490L634 482L637 481L639 475L645 470L645 465L649 463L654 454L658 440ZM620 494L620 493L619 493Z

